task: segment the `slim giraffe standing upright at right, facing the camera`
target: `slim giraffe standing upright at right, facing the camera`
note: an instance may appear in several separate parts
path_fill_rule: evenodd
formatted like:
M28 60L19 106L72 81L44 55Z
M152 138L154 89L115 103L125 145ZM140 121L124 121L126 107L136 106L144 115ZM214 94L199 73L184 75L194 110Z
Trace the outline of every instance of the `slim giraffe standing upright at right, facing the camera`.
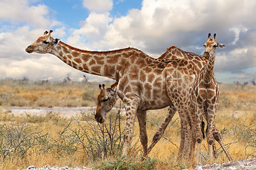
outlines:
M215 79L215 75L213 72L214 62L215 62L215 52L216 48L223 48L225 45L216 42L215 40L216 34L214 34L213 39L210 38L210 33L208 34L208 40L204 44L206 47L206 52L204 52L204 56L208 57L209 60L205 64L205 66L201 69L196 77L195 81L190 88L190 101L193 105L192 113L195 113L194 122L196 123L196 129L194 128L193 132L196 132L196 142L197 142L197 151L196 151L196 162L199 161L200 154L200 145L203 140L202 132L201 132L201 121L203 119L203 114L206 116L207 120L207 129L206 129L206 137L208 142L209 149L209 157L210 163L213 162L213 150L212 145L214 142L213 134L215 134L215 125L214 118L215 112L218 107L218 101L220 96L220 88ZM195 142L193 142L195 143ZM193 144L194 145L194 144Z

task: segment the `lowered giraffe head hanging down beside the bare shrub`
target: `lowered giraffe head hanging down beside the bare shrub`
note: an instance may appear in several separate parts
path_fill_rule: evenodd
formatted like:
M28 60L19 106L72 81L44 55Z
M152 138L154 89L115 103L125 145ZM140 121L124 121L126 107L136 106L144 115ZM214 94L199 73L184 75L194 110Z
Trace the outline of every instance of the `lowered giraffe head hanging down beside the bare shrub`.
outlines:
M100 94L97 96L97 107L95 119L98 123L104 123L107 113L111 111L114 104L117 102L117 83L113 84L111 88L105 89L105 84L99 85Z

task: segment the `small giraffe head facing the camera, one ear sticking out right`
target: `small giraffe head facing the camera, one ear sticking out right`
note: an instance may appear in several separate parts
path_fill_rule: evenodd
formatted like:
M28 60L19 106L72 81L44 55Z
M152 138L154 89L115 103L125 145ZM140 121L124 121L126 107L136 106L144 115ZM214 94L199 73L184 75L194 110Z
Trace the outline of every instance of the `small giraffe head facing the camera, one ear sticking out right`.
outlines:
M210 52L216 52L216 48L224 48L225 45L218 43L216 40L216 34L213 35L213 39L210 38L210 33L208 34L208 40L206 43L203 45L206 47L206 51L203 53L203 56L208 58L210 56Z

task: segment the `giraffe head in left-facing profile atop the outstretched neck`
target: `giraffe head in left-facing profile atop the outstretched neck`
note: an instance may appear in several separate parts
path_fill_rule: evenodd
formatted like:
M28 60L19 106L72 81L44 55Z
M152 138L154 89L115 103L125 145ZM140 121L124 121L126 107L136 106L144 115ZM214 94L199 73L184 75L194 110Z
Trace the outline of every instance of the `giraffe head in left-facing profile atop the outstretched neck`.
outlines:
M42 37L39 37L35 42L33 42L26 48L26 52L37 52L40 54L46 54L51 52L53 50L53 47L55 45L58 45L58 42L60 42L58 38L51 38L51 33L53 33L53 30L50 30L49 33L46 30L46 32L43 33Z

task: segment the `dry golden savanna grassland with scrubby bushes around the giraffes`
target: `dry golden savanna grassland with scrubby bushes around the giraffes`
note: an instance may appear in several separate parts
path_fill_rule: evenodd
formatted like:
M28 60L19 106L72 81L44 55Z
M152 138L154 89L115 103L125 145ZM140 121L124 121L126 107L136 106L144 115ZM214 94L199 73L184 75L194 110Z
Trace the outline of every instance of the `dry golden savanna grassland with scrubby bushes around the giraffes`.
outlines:
M215 123L231 157L234 160L256 157L256 86L221 84L220 91ZM52 111L43 115L17 115L11 111L13 106L92 107L98 92L98 84L90 82L0 81L0 169L25 169L30 165L41 167L46 164L95 169L193 167L192 164L176 162L180 141L178 113L149 158L141 162L138 123L135 123L129 156L120 156L124 132L124 106L120 101L116 107L121 109L111 111L104 125L95 122L93 111L81 110L72 118ZM149 142L166 113L166 108L148 111ZM220 145L216 145L218 159L214 162L228 162ZM203 141L201 154L204 164L208 164L205 161L207 152L206 141Z

